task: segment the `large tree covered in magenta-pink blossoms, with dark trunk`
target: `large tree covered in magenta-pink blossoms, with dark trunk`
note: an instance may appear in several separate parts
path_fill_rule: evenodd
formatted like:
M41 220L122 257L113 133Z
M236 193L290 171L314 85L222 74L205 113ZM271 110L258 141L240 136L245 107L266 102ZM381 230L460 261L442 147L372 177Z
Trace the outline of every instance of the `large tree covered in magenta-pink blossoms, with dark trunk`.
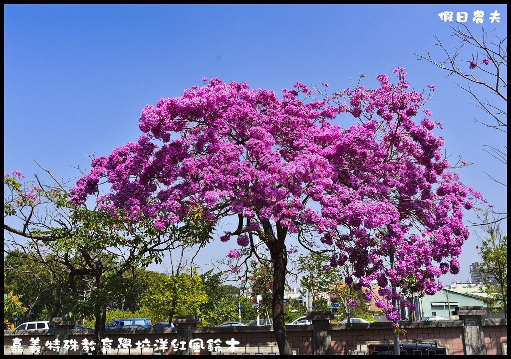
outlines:
M190 214L214 224L238 216L237 228L220 240L236 237L255 254L257 236L269 249L275 336L280 352L290 354L286 238L309 248L306 234L316 233L333 251L331 267L354 266L346 283L355 289L413 278L410 290L433 294L442 288L438 276L459 271L456 258L469 236L463 208L482 196L449 171L431 112L415 119L428 99L409 90L403 68L394 73L397 84L380 75L380 88L357 86L309 102L298 98L311 93L301 83L279 99L217 78L158 100L143 110L137 142L92 161L71 191L73 202L97 193L104 177L111 191L98 202L112 216L150 217L157 228ZM357 123L331 124L338 115ZM380 305L396 320L397 308Z

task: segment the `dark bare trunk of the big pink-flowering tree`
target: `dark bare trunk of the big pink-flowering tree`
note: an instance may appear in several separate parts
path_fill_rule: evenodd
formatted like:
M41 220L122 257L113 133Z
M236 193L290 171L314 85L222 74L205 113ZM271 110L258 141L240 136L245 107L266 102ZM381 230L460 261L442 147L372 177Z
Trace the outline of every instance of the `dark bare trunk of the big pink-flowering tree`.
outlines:
M287 252L284 244L269 248L273 261L273 299L271 302L273 330L280 355L293 355L284 322L284 286L286 282Z

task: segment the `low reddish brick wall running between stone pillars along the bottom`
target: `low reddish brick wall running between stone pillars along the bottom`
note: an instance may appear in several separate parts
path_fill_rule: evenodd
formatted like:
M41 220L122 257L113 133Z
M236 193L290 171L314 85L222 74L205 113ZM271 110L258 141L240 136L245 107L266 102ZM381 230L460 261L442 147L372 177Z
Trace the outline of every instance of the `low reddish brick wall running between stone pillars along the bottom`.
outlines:
M406 336L401 336L402 340L439 340L441 347L447 346L450 355L463 355L463 321L432 321L432 322L402 322L401 327L407 331ZM484 332L484 343L487 354L502 354L502 343L507 343L507 320L486 320L482 322ZM236 339L241 344L262 344L275 343L275 337L272 327L197 327L193 328L193 338L200 338L204 341L208 339L220 339L222 345L231 338ZM312 325L293 325L288 326L288 336L293 349L298 349L301 355L313 354L313 326ZM81 343L84 338L92 340L93 330L73 330L69 333L69 339L75 339ZM349 354L349 348L354 346L354 342L368 341L392 341L393 329L390 322L380 323L356 323L356 324L331 324L330 333L332 338L333 354ZM54 340L54 330L33 330L33 331L4 331L4 346L11 346L13 338L20 338L22 346L30 345L30 338L39 337L42 346L42 354L55 354L47 350L44 344L47 340ZM112 339L112 347L117 347L118 339L130 338L131 344L135 347L137 341L148 339L151 344L156 339L166 339L169 349L165 354L174 354L171 342L177 339L176 329L158 328L158 329L106 329L105 337ZM81 349L80 345L80 349ZM205 354L206 349L201 351ZM69 352L69 354L78 354Z

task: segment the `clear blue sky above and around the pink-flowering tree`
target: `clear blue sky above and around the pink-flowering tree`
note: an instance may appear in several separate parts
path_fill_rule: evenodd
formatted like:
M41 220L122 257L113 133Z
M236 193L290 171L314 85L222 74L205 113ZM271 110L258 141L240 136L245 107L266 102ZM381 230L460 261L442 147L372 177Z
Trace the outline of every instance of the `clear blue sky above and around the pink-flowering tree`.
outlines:
M475 10L485 12L482 25L471 21ZM501 19L492 24L495 10ZM436 133L452 158L474 162L458 172L463 182L506 211L505 188L482 172L507 181L505 166L483 151L507 145L506 136L473 122L485 117L455 83L463 81L413 55L430 49L443 59L435 34L451 49L459 45L449 36L455 22L438 16L443 11L468 12L476 34L484 26L506 35L505 5L4 5L4 172L32 179L41 172L36 159L75 178L72 166L90 169L87 155L108 155L138 138L147 104L178 97L202 77L277 93L298 81L338 90L360 74L362 85L376 87L377 75L392 78L402 66L415 89L436 85L427 106L444 124ZM444 284L469 276L476 243L472 235L460 274L442 277ZM233 246L216 241L198 262Z

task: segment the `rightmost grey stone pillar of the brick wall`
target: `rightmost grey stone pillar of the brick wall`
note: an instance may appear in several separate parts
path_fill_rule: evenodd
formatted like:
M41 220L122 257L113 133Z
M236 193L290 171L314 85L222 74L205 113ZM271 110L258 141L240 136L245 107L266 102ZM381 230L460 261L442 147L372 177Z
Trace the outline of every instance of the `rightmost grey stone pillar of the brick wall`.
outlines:
M486 355L482 316L487 313L482 305L456 307L452 314L463 321L463 348L466 355Z

